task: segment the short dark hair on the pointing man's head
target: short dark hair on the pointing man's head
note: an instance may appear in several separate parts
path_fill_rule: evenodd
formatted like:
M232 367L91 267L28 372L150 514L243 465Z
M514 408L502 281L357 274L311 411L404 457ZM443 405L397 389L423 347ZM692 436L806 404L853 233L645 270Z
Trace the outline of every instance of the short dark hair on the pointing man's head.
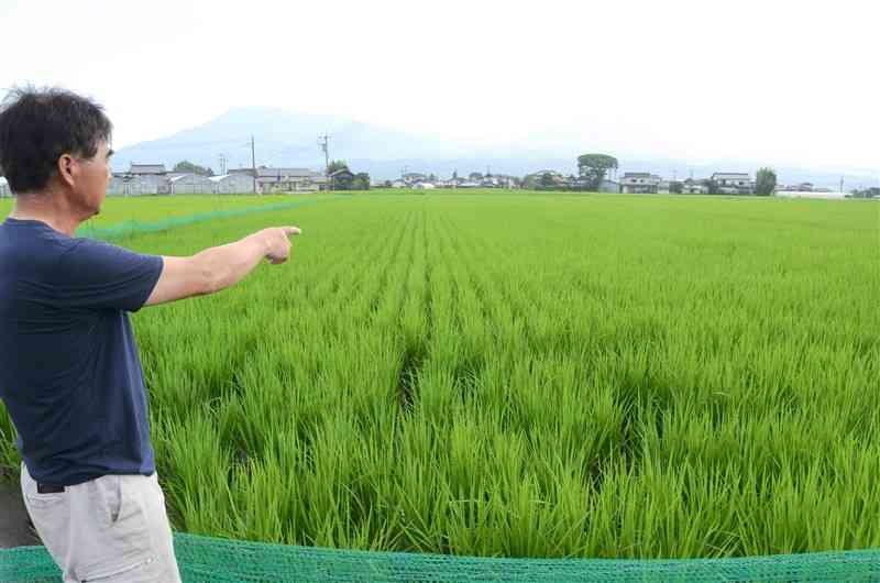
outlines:
M113 124L103 108L72 91L12 89L0 102L0 168L13 194L42 190L62 154L92 158Z

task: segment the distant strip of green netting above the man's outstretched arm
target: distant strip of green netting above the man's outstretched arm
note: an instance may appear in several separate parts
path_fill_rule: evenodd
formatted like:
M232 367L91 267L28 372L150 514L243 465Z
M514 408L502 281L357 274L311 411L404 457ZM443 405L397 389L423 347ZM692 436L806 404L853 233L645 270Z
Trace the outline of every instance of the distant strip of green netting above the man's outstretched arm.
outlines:
M85 224L77 230L77 235L110 241L133 234L155 233L160 231L167 231L168 229L174 229L176 227L186 227L188 224L195 224L199 222L244 217L245 215L253 215L255 212L287 210L295 207L316 205L318 202L323 202L326 200L340 200L350 197L351 195L327 195L321 198L315 198L308 200L296 200L292 202L277 202L272 205L262 205L257 207L211 210L206 212L197 212L194 215L182 215L179 217L168 217L161 221L139 221L136 219L130 219L128 221L122 221L108 227L95 227L92 224Z

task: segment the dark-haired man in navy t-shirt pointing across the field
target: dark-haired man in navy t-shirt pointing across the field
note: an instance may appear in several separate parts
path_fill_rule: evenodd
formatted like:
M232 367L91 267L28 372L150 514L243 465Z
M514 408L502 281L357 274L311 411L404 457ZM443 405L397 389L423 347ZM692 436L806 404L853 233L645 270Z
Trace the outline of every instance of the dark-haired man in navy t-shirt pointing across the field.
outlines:
M106 197L111 131L99 106L61 89L16 89L0 105L0 167L16 197L0 224L0 398L19 433L25 506L64 581L173 583L128 312L283 263L299 229L191 257L76 238Z

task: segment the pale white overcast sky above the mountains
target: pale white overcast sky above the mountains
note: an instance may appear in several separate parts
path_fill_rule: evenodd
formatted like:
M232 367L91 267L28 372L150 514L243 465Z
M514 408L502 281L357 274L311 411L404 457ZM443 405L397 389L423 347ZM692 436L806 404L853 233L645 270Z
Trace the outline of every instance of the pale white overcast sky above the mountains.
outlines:
M877 6L0 0L0 88L95 97L117 148L265 105L479 143L878 170Z

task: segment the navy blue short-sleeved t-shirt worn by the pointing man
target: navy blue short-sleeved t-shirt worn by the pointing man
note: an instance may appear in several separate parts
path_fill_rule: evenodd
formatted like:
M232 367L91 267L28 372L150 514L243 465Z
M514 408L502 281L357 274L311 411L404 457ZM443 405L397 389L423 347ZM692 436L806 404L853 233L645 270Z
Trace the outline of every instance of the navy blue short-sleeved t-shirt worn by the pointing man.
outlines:
M0 398L37 482L155 471L127 312L144 305L162 266L40 221L0 224Z

